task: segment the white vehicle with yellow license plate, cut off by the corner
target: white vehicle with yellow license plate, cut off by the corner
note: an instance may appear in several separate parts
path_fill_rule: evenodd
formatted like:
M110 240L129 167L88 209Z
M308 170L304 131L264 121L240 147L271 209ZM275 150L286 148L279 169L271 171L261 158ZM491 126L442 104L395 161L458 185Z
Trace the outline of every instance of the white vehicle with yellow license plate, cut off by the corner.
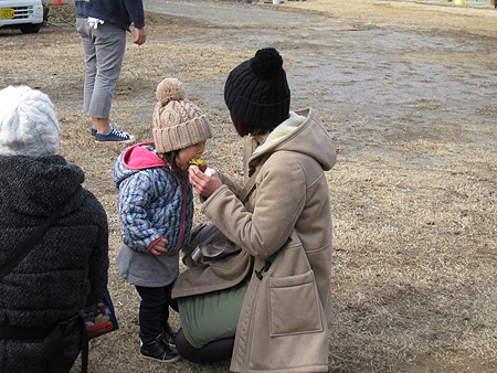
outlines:
M22 33L39 32L43 25L42 0L0 0L0 29L20 29Z

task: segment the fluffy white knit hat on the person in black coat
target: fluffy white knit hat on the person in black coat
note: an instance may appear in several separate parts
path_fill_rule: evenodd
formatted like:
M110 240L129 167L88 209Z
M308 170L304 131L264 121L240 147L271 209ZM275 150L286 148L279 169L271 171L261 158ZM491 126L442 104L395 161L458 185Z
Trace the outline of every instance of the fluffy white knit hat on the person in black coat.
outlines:
M0 90L0 156L53 156L60 130L47 95L28 86Z

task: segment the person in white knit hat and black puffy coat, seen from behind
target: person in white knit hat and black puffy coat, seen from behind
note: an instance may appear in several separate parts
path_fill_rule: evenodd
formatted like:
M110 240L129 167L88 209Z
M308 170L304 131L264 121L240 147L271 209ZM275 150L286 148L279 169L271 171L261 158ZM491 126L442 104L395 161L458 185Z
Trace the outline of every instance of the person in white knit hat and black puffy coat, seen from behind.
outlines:
M55 154L59 132L49 96L28 86L0 90L0 266L68 199L43 238L0 280L3 373L49 372L40 330L61 322L62 365L70 371L84 328L65 322L107 288L107 216L82 188L83 171Z

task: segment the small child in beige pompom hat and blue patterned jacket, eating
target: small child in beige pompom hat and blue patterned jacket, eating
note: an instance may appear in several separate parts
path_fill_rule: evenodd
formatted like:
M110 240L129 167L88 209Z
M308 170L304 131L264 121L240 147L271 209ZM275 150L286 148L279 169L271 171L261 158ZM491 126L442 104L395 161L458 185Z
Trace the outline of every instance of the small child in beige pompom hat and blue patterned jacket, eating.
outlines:
M168 323L170 290L179 275L179 249L193 220L189 161L200 158L212 135L207 116L186 98L183 85L166 78L158 86L154 142L126 149L116 160L123 243L120 275L136 286L140 354L161 362L179 359Z

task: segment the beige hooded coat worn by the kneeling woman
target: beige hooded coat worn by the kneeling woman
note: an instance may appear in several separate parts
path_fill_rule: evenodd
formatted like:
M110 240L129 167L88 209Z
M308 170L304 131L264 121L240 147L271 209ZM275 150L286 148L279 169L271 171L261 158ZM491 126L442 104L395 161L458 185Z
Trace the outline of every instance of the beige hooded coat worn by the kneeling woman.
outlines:
M246 179L258 170L247 201L223 177L202 205L241 254L187 270L172 296L223 289L251 271L230 370L327 372L331 213L324 171L336 162L335 147L313 109L292 113L255 151L251 142Z

